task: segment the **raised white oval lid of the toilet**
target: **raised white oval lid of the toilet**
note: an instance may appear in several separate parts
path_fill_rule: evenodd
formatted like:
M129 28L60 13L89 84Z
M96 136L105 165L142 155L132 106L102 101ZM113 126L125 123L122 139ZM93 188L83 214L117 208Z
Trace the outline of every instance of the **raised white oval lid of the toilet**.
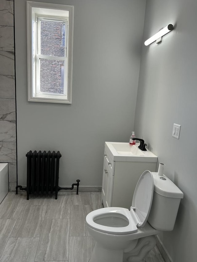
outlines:
M143 172L135 187L131 206L131 215L137 227L143 227L148 219L154 191L153 175L150 171Z

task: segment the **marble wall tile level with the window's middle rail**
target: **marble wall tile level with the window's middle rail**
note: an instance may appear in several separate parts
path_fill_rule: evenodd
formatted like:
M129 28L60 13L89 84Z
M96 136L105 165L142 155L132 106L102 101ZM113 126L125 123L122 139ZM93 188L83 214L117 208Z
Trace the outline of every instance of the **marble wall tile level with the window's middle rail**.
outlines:
M0 75L14 76L14 52L0 51Z

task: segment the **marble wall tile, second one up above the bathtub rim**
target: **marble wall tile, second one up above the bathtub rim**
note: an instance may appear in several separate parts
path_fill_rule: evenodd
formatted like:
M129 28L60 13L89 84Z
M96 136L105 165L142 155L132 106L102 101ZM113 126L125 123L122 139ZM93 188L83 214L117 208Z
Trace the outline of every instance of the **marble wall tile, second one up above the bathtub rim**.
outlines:
M0 121L0 141L16 142L16 121Z

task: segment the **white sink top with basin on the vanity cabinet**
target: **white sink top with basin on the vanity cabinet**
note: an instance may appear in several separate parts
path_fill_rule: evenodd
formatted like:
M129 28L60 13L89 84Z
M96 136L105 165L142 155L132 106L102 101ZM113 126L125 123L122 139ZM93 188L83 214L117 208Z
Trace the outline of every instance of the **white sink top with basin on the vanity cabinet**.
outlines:
M140 143L130 145L122 142L105 142L106 154L111 154L113 161L130 161L130 162L157 162L157 156L147 149L142 151L138 148Z

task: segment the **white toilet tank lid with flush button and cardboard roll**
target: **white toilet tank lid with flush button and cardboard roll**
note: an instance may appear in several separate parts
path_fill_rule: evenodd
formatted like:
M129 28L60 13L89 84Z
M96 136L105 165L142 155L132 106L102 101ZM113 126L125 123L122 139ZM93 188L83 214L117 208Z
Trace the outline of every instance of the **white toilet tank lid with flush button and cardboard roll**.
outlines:
M154 191L157 194L164 197L183 198L183 192L167 176L158 176L157 172L152 172L152 175Z

